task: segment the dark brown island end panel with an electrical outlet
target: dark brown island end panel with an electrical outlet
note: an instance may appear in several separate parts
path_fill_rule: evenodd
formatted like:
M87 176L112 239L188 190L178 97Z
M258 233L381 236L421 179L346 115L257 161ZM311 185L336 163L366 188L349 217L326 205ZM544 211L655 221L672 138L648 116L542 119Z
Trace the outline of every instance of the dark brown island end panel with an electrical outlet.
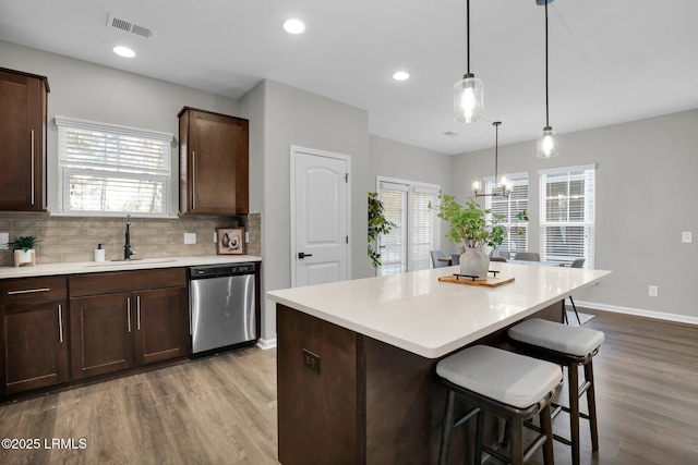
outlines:
M365 462L361 338L277 306L279 462Z

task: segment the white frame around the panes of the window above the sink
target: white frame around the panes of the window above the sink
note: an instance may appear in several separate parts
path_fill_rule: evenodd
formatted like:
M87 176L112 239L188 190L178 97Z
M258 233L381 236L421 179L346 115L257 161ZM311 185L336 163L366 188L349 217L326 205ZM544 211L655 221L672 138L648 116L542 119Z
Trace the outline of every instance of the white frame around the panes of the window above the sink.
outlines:
M81 216L81 217L123 217L131 215L136 218L176 218L173 216L174 201L172 183L172 145L174 136L170 133L143 130L139 127L123 126L97 121L80 120L69 117L55 117L58 126L58 211L53 216ZM87 131L106 133L117 138L141 138L148 143L161 144L161 166L155 168L134 168L118 163L88 162L85 160L71 160L68 156L68 134L70 131ZM106 139L107 137L105 137ZM174 152L177 152L174 150ZM119 154L121 154L119 151ZM79 210L70 207L70 178L71 175L91 175L104 179L121 179L130 181L153 181L161 183L161 211L145 212L128 209L120 210Z

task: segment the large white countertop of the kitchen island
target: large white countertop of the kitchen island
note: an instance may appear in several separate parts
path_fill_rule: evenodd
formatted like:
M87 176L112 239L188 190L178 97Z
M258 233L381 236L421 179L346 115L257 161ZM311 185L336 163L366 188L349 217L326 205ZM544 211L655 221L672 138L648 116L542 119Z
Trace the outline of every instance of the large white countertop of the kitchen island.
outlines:
M611 273L492 262L498 287L440 282L459 268L267 292L279 304L428 358L438 358L505 328Z

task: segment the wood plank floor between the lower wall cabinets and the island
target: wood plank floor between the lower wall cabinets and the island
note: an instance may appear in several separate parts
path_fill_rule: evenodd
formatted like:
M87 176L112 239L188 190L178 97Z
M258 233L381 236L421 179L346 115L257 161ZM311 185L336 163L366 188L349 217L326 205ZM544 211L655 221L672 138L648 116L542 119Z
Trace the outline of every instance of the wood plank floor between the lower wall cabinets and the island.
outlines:
M277 464L276 436L276 351L257 347L0 406L0 439L40 441L8 465Z

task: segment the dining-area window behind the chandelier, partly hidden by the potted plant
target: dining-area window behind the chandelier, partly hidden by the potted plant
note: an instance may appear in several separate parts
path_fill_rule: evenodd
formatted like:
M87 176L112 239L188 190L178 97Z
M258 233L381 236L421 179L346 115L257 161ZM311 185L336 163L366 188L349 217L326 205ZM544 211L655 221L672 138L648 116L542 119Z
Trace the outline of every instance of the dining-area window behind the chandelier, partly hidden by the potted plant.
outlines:
M485 208L504 217L502 224L507 228L507 234L498 248L510 252L528 250L528 221L516 218L520 211L529 211L528 173L512 174L508 178L513 184L509 197L486 197ZM485 193L492 194L494 187L494 178L486 178Z

